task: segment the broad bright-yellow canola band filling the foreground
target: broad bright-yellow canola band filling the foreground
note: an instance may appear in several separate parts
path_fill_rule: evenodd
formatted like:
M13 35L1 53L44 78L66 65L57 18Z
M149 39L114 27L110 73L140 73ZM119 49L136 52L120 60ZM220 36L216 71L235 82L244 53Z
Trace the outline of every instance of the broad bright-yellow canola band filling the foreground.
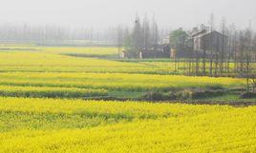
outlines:
M255 110L255 106L0 98L0 111L6 112L0 116L1 127L19 124L0 132L0 152L252 153L256 151ZM22 118L8 123L7 112ZM45 113L62 114L53 120L60 124ZM79 124L77 114L87 114L83 120L91 124ZM89 118L89 114L95 116ZM47 125L36 126L40 122L32 115ZM70 118L76 122L67 126Z

